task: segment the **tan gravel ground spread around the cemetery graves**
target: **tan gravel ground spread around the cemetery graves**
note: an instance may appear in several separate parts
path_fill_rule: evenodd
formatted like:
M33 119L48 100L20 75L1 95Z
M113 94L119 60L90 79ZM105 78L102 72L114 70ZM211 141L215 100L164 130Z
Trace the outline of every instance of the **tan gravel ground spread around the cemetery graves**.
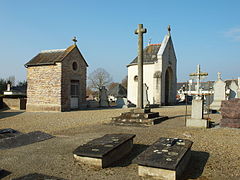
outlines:
M169 119L151 127L108 125L111 117L129 109L81 110L72 112L0 111L0 129L12 128L23 133L43 131L55 138L0 150L0 169L13 179L30 173L63 179L141 179L136 157L160 137L184 138L193 141L192 157L183 179L240 179L240 129L187 128L185 106L152 109ZM190 118L191 106L188 106ZM207 117L207 115L205 115ZM220 114L210 114L219 123ZM110 133L136 134L132 152L106 169L95 169L77 163L73 151L79 145Z

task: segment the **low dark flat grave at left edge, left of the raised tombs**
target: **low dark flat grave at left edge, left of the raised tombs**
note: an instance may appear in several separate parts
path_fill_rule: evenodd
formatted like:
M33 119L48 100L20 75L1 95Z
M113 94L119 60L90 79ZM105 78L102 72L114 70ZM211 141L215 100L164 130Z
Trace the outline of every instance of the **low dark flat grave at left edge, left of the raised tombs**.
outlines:
M0 150L16 148L40 141L44 141L54 136L41 132L34 131L27 134L20 133L14 129L1 129L0 130Z

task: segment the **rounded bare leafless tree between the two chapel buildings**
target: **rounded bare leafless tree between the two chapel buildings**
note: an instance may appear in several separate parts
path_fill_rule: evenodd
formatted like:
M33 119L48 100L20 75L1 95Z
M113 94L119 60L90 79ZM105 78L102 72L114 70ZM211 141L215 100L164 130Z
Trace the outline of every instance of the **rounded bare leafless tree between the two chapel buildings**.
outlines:
M88 76L90 88L99 90L102 86L108 86L112 82L111 75L103 68L97 68Z

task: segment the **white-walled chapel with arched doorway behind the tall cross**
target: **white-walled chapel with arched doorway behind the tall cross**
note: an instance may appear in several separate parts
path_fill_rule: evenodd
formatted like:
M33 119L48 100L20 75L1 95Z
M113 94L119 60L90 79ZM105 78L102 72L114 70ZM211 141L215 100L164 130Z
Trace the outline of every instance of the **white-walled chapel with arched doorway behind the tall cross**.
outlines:
M177 59L171 38L171 29L161 44L149 44L143 52L143 83L147 87L147 97L150 104L173 105L177 92ZM128 68L127 98L137 104L138 87L138 57Z

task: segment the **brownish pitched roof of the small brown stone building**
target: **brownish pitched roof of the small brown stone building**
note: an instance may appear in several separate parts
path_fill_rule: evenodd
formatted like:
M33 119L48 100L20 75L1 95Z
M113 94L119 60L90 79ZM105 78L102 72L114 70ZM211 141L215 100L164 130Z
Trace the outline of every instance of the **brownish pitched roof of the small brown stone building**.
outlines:
M53 65L56 62L62 62L63 59L74 49L77 48L77 45L69 46L67 49L54 49L54 50L45 50L41 51L38 55L32 58L28 63L25 64L25 67L29 66L41 66L41 65ZM82 56L81 52L79 51ZM86 66L88 66L84 57L82 56Z

